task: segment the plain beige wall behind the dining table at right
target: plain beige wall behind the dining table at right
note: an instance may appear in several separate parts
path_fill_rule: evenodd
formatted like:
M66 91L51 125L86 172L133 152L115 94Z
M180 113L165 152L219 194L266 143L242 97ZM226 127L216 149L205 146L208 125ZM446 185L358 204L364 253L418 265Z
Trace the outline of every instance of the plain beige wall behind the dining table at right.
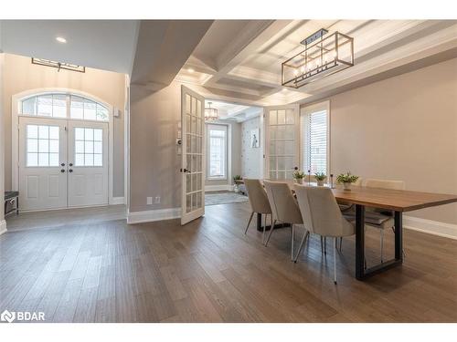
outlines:
M331 169L457 194L457 59L330 98ZM457 203L409 212L457 224Z

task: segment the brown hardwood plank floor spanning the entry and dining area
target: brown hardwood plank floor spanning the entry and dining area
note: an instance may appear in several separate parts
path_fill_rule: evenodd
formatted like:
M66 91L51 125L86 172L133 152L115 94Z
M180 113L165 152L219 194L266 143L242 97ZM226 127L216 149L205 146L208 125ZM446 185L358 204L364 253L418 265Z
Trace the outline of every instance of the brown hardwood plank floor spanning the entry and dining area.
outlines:
M47 322L456 322L457 241L405 230L405 264L354 278L354 238L337 256L313 236L298 264L289 228L261 244L249 203L204 218L127 225L69 223L0 236L0 311L43 311ZM297 233L297 245L301 233ZM379 237L367 231L367 262ZM393 254L386 233L385 253Z

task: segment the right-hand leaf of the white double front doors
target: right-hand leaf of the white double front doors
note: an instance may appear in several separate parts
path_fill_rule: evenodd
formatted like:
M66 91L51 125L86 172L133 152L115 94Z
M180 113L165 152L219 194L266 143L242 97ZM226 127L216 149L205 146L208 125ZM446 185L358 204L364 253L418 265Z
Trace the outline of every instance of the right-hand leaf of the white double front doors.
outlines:
M108 204L108 123L69 120L69 207Z

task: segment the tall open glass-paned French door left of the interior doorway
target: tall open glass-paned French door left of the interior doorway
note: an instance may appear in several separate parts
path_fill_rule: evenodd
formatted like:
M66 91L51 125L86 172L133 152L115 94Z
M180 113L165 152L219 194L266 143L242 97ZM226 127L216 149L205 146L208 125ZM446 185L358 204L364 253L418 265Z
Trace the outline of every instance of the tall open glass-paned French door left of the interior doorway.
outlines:
M181 224L205 214L205 98L181 88Z

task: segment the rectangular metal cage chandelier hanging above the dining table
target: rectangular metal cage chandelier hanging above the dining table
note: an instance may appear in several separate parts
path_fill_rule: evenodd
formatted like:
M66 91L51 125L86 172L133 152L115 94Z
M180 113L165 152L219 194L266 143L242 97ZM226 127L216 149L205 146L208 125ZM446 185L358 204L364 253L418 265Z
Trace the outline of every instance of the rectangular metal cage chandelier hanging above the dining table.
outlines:
M329 36L324 28L304 39L304 50L281 65L282 86L301 88L354 66L354 38L340 32Z

